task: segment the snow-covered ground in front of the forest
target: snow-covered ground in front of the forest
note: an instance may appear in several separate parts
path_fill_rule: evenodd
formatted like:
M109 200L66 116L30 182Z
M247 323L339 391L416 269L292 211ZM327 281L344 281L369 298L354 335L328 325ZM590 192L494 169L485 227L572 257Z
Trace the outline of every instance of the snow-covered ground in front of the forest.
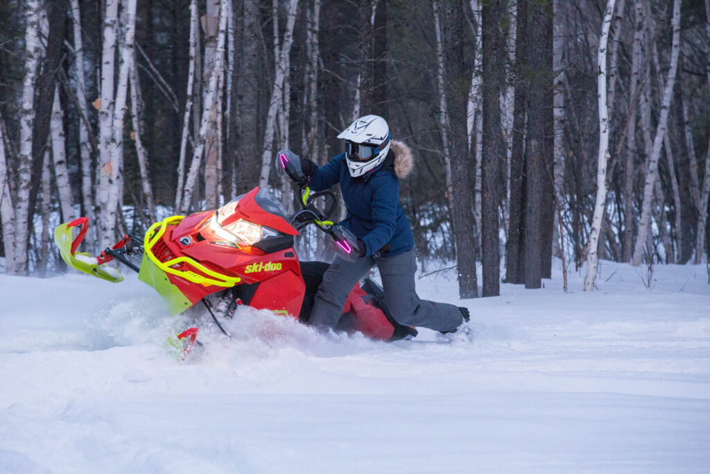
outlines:
M570 279L461 302L471 342L245 309L180 364L162 343L184 322L135 276L0 276L0 473L710 472L706 268ZM417 284L458 301L450 272Z

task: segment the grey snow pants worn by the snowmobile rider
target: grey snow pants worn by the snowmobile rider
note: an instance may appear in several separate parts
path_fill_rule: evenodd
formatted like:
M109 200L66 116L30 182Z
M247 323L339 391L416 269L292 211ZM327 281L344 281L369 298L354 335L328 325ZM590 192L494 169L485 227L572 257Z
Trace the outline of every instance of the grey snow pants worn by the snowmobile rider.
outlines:
M409 250L394 257L361 257L356 262L335 257L318 287L310 323L320 330L334 329L350 290L374 265L380 269L385 304L398 323L450 331L463 322L457 306L425 301L417 296L414 281L417 262L414 251Z

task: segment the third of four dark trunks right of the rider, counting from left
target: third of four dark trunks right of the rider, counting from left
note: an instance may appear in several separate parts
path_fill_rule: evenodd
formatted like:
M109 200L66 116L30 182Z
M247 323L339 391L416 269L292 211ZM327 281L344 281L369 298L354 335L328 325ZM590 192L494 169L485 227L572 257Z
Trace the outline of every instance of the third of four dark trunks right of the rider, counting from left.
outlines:
M513 102L513 144L510 149L510 210L508 215L508 241L506 242L506 280L508 283L525 282L523 242L525 242L525 191L523 190L526 102L523 68L528 55L528 1L518 0L518 19L515 24L515 97Z

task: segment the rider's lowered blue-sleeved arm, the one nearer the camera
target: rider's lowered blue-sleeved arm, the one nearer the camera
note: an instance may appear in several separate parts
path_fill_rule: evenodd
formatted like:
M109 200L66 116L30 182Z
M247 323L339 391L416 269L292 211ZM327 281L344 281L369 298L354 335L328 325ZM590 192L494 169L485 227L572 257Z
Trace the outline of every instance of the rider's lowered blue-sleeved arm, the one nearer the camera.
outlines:
M372 195L372 220L375 228L362 238L367 247L366 255L377 252L392 239L397 222L399 180L392 174L378 178L378 186Z

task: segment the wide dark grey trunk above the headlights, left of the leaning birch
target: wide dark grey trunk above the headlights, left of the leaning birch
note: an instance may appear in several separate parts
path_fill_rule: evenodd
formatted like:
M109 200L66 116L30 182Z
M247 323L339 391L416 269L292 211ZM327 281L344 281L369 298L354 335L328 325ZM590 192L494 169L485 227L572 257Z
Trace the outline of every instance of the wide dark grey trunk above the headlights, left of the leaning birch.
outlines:
M241 28L241 70L237 99L239 104L239 138L237 139L236 194L246 193L258 183L261 172L261 139L259 122L259 84L262 50L257 38L260 37L261 15L257 0L244 1L244 21ZM196 71L197 73L197 71Z

